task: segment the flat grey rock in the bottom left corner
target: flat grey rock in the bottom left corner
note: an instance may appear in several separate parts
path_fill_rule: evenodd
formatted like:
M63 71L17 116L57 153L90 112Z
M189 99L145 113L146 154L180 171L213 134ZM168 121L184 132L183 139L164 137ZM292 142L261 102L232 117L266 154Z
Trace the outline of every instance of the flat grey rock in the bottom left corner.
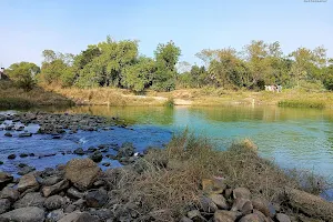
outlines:
M37 206L20 208L0 215L1 219L9 219L16 222L43 222L44 211Z

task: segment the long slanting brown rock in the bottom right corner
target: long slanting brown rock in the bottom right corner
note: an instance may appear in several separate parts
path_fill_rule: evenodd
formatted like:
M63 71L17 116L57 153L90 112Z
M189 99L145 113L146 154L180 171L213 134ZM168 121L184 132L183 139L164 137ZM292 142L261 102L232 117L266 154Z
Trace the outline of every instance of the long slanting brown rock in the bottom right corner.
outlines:
M289 199L289 204L294 209L300 210L311 218L333 221L332 202L296 189L285 189L285 194Z

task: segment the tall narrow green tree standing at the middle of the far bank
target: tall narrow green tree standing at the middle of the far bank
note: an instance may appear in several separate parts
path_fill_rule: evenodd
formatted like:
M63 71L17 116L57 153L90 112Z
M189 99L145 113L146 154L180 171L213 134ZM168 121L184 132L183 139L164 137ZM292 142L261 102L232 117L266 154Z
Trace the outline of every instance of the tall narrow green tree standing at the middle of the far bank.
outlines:
M152 88L158 91L171 91L175 88L175 64L181 56L180 48L173 41L159 44L154 51L157 71L152 80Z

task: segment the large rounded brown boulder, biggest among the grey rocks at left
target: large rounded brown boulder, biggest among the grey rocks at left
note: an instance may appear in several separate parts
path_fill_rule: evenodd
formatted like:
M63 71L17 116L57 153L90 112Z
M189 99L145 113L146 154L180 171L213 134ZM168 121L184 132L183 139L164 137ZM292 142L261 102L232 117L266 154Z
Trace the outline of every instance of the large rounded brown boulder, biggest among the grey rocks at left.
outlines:
M101 173L101 169L90 159L73 159L65 165L65 178L79 190L87 190Z

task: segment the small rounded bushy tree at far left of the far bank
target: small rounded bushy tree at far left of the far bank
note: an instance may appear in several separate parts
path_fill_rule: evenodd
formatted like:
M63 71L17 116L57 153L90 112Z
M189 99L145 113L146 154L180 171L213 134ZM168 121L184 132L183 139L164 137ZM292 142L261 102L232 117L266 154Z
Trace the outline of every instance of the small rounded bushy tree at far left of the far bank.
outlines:
M13 63L8 69L8 75L14 83L26 91L31 90L36 84L36 74L40 68L31 62Z

